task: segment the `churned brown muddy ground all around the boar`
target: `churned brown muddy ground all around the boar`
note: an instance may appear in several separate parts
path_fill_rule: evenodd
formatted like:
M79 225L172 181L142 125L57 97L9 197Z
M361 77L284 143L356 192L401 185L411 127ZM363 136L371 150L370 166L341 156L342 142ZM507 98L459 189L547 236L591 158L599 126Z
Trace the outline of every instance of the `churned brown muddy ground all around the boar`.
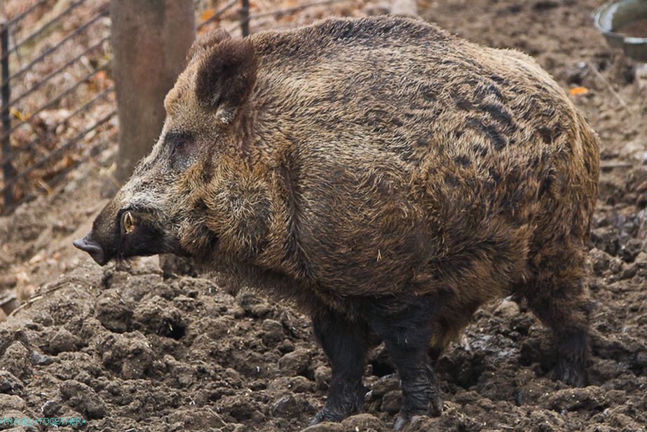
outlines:
M421 3L426 20L524 50L565 91L587 88L571 97L599 132L603 170L590 242L591 385L554 382L547 330L523 304L498 302L439 360L442 416L407 431L645 430L647 88L592 27L598 4ZM57 194L0 219L2 280L25 299L35 294L0 323L0 417L83 417L88 431L306 427L329 368L304 316L213 278L164 275L156 259L102 269L69 247L99 205L111 154L102 157ZM311 431L389 431L401 395L381 349L367 385L365 414Z

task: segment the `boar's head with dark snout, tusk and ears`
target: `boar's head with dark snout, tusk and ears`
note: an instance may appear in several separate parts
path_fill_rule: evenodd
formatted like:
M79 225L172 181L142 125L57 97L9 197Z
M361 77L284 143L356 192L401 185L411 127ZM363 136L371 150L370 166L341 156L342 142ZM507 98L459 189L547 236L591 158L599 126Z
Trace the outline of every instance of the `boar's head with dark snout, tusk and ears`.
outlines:
M245 144L256 71L247 39L219 30L193 43L186 69L165 97L158 142L74 245L101 265L158 253L257 248L269 204Z

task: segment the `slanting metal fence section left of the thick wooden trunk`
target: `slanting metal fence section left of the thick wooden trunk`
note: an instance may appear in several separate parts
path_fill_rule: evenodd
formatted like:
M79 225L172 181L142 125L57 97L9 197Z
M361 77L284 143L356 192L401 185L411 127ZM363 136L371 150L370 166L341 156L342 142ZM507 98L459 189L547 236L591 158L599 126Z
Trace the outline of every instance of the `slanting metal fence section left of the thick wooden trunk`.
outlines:
M84 158L77 158L73 163L68 163L61 169L51 170L53 175L49 176L47 181L41 180L38 187L30 188L25 185L34 171L54 166L62 161L69 151L81 143L88 134L104 126L116 114L116 109L113 106L108 113L86 128L79 130L76 135L65 139L57 137L57 131L61 127L64 128L74 119L79 119L84 113L92 110L98 102L107 100L114 91L114 88L110 86L100 90L90 100L79 104L75 102L79 88L83 84L90 83L97 74L109 68L109 60L104 59L96 65L93 65L93 62L84 61L91 56L100 57L97 53L107 50L109 35L91 43L87 48L81 46L80 52L76 55L67 56L67 54L73 53L75 48L77 51L79 50L79 43L77 43L79 38L87 37L90 30L107 18L109 15L107 3L100 5L100 9L94 15L76 29L62 36L60 40L50 40L52 38L49 33L55 27L62 25L66 18L74 11L78 11L85 3L86 0L72 1L64 10L56 11L57 13L50 19L38 22L39 26L36 29L18 41L15 41L15 34L18 33L18 28L22 27L23 21L34 18L34 15L42 13L43 9L47 11L47 1L37 0L26 11L0 22L0 97L2 100L0 166L3 175L0 195L4 213L10 212L17 205L38 193L39 190L49 190L52 184L83 163ZM25 26L25 28L27 27L29 26ZM34 58L25 61L25 51L31 51L32 45L43 39L45 43L42 45L46 48ZM12 41L13 43L11 43ZM64 60L60 62L61 64L55 65L56 56L62 53L65 54ZM71 74L70 69L79 63L86 65L83 67L85 73L82 76L75 76L76 74ZM15 70L11 70L10 65L14 66ZM29 74L35 76L35 79L29 81L29 86L25 86L26 77ZM62 76L69 79L61 79ZM55 80L65 81L68 85L53 92L42 91L45 86L56 87L58 83ZM13 93L18 94L14 95ZM41 100L43 93L53 93L53 96L48 97L47 100ZM40 115L50 109L65 106L70 107L69 114L56 119L53 124L46 125L43 130ZM21 139L17 135L20 135ZM29 156L27 161L22 161L27 157L27 154ZM20 187L21 183L23 187ZM19 191L18 196L16 196L16 191Z

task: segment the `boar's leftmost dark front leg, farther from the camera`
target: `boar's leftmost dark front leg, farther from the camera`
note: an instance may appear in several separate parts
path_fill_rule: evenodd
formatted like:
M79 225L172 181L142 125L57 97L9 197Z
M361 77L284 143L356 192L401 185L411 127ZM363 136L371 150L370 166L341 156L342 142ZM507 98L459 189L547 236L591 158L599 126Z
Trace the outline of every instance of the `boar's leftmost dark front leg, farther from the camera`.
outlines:
M313 316L315 337L328 356L332 377L328 400L311 424L340 421L362 410L367 388L362 384L367 351L368 328L360 321L350 322L334 311Z

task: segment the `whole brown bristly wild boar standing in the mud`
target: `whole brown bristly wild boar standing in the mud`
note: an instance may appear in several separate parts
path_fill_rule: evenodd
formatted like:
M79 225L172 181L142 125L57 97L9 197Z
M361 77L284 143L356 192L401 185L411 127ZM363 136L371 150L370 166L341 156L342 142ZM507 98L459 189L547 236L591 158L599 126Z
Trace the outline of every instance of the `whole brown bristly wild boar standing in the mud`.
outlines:
M430 363L484 302L525 299L583 386L597 137L531 58L406 18L196 41L151 154L76 246L189 255L313 320L332 365L313 419L362 409L369 340L396 428L439 414Z

